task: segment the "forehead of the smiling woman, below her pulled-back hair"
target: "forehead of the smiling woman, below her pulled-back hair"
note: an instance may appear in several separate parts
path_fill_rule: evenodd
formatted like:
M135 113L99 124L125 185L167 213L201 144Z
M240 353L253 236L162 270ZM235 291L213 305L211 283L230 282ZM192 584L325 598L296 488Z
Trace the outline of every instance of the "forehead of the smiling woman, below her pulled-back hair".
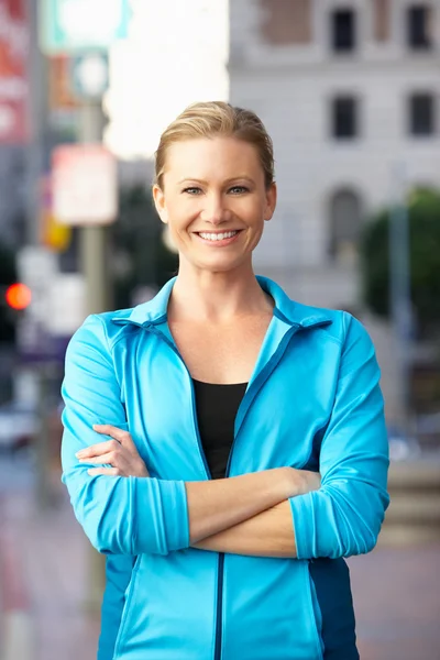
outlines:
M169 179L263 176L256 147L237 138L200 138L175 142L166 152Z

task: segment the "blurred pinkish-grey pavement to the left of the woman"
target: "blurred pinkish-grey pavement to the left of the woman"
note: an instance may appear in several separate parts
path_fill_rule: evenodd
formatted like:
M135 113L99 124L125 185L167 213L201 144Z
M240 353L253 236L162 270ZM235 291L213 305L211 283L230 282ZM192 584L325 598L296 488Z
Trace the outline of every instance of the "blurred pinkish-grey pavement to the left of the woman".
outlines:
M96 659L99 623L85 610L87 550L64 493L44 516L30 494L0 501L0 660Z

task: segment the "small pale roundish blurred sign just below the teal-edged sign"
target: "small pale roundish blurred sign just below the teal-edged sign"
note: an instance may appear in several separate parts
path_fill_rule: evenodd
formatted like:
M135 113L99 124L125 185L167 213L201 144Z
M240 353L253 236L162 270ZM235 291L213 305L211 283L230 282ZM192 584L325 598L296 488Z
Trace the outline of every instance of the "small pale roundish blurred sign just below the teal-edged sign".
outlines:
M107 53L86 53L74 57L70 63L70 85L78 99L102 97L109 85Z

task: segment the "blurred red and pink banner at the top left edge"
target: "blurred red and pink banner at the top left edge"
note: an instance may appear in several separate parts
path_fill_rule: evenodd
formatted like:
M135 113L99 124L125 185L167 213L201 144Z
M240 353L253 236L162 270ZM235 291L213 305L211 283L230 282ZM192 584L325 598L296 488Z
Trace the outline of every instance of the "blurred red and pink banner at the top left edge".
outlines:
M0 0L0 144L28 140L26 0Z

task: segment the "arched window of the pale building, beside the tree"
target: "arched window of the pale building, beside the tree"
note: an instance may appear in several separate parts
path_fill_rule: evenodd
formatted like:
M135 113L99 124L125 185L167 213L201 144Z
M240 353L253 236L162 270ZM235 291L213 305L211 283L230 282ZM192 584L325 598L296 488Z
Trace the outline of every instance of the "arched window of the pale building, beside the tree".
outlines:
M362 204L356 193L338 190L330 200L329 254L332 261L354 265L362 230Z

